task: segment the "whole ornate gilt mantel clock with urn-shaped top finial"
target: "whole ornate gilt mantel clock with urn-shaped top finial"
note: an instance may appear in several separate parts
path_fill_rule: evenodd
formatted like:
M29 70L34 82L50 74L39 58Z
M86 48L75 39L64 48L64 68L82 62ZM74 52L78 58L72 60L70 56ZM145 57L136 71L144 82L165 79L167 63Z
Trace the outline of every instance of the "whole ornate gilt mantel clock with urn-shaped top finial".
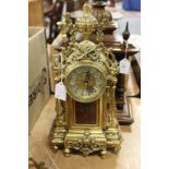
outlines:
M62 48L53 70L56 82L63 81L67 100L56 99L57 118L50 142L53 149L64 147L65 156L75 149L84 156L99 152L104 158L108 148L118 152L122 141L114 101L118 62L101 43L107 17L98 23L87 3L83 10L83 17L75 24L65 14L64 25L71 31L71 41ZM95 31L97 44L88 40ZM83 41L75 40L76 32L84 35Z

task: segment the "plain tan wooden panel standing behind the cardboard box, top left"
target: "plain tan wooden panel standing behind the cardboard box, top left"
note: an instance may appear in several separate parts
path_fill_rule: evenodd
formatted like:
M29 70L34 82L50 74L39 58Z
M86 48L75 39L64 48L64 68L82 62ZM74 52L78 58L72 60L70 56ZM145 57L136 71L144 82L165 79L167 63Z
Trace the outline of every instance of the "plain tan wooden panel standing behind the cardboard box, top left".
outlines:
M28 26L44 26L43 0L28 0Z

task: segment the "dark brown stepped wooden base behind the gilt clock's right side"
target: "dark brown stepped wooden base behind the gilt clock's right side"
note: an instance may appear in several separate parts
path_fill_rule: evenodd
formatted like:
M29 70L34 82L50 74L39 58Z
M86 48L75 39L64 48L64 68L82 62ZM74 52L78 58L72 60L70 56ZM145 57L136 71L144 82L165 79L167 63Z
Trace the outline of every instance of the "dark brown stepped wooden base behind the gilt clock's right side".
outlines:
M123 110L117 110L117 119L119 124L129 125L134 122L133 110L131 107L130 98L126 97L124 102Z

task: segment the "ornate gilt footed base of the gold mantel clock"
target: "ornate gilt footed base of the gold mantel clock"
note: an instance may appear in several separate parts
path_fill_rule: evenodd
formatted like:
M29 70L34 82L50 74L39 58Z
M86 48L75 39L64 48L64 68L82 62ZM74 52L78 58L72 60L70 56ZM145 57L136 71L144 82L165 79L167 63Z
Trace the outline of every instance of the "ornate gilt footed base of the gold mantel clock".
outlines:
M70 156L71 150L77 150L82 152L83 156L99 152L100 157L105 158L107 148L118 154L122 142L118 126L106 130L65 130L55 126L50 136L52 149L58 150L59 147L64 147L65 157Z

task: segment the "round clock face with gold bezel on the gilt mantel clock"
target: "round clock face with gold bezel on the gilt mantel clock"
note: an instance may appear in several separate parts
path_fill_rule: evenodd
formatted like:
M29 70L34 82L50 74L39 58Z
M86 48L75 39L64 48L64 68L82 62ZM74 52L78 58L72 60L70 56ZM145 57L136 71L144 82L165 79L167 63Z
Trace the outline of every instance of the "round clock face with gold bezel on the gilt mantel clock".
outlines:
M98 68L81 65L69 73L65 84L73 99L90 102L98 99L105 92L106 79Z

